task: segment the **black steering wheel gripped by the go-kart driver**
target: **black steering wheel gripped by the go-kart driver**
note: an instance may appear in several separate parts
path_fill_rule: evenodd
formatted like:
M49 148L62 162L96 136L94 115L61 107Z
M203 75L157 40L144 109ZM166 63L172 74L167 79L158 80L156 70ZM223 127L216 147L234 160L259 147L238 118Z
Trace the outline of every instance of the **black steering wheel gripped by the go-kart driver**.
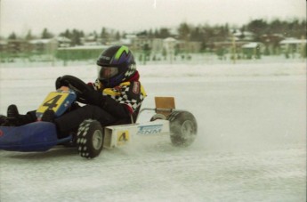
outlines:
M85 103L85 93L91 91L91 87L86 85L81 79L70 75L58 77L55 82L55 87L58 89L62 85L68 86L70 89L77 93L77 101Z

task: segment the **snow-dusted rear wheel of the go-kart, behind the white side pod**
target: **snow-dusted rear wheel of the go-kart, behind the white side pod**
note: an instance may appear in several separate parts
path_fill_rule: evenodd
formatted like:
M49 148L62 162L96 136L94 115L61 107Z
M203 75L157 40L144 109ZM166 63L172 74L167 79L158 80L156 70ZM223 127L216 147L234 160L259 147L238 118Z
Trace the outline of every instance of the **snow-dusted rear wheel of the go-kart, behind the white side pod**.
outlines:
M174 111L168 117L171 141L176 147L187 147L198 133L196 118L189 111Z

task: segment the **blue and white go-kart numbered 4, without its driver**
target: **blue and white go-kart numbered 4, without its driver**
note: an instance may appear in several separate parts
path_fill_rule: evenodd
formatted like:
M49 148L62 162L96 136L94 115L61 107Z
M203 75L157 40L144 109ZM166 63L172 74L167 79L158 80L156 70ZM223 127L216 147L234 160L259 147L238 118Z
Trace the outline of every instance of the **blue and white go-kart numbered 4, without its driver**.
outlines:
M56 126L41 121L46 109L53 109L60 117L74 101L85 101L84 93L89 86L73 76L63 76L65 87L49 93L36 109L37 121L20 126L0 126L0 149L9 151L46 151L57 145L74 146L84 158L95 158L102 148L112 149L129 143L141 136L169 135L174 146L189 146L196 138L198 125L196 118L186 110L175 109L173 97L156 97L155 108L141 109L153 111L148 122L102 127L93 119L84 120L77 133L58 139Z

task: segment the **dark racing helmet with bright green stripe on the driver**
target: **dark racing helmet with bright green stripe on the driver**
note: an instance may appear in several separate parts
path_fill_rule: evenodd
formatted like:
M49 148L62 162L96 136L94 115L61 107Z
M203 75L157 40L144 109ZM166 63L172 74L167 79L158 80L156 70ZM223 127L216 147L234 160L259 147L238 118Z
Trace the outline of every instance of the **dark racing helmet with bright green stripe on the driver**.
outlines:
M113 45L97 60L98 79L105 87L114 87L133 77L136 72L133 53L125 45Z

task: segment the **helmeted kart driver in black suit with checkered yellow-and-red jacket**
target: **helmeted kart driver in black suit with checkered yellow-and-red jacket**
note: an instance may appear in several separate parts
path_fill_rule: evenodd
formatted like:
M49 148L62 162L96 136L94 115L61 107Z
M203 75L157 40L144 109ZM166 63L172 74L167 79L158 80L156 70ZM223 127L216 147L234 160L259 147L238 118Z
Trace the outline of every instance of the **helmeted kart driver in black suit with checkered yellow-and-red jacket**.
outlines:
M77 132L85 119L95 119L101 126L130 124L136 121L141 102L146 93L139 81L133 53L125 45L114 45L101 53L97 60L98 78L89 83L91 90L84 94L85 106L74 102L61 117L55 117L52 109L44 112L42 121L53 122L58 138ZM61 77L56 80L56 88L66 85ZM7 109L7 117L0 117L2 126L19 126L35 122L36 110L20 115L16 105Z

